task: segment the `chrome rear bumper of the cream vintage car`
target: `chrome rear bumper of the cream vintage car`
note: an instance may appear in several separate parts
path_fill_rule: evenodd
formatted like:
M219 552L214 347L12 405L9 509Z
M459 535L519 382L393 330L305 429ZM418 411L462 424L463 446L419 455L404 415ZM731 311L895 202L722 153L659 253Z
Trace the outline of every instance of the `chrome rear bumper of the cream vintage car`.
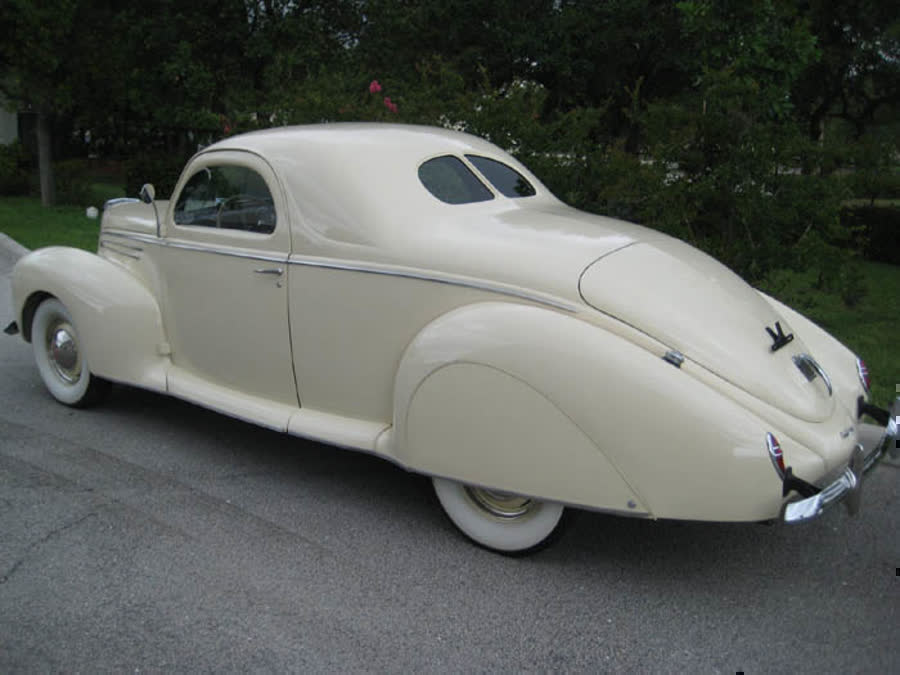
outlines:
M850 462L843 473L823 488L817 488L802 481L788 469L784 479L785 495L792 490L800 493L804 499L785 504L782 519L786 523L799 523L819 516L827 506L843 501L851 515L859 510L860 490L863 474L878 463L885 453L891 457L898 455L897 416L900 415L900 398L894 400L890 410L883 411L887 417L881 438L866 448L856 446L850 456Z

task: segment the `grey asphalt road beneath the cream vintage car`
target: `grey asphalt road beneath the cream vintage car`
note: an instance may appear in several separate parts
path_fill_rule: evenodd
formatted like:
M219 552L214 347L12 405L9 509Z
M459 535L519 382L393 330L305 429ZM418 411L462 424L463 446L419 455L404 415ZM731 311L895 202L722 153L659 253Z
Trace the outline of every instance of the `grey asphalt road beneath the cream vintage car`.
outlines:
M0 334L0 672L898 672L898 481L790 528L583 513L511 559L373 457L127 387L61 406Z

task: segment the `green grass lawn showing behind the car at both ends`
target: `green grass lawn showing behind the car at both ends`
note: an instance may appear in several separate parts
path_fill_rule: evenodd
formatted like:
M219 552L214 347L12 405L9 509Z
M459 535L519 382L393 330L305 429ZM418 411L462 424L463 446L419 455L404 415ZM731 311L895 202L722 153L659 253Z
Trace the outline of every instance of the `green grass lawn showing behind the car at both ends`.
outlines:
M120 194L110 188L104 198L115 196ZM61 244L96 251L99 229L99 219L85 216L82 207L44 209L36 199L0 198L0 232L28 248ZM900 267L864 262L862 273L867 293L855 307L819 295L798 309L865 359L873 400L886 405L900 394Z

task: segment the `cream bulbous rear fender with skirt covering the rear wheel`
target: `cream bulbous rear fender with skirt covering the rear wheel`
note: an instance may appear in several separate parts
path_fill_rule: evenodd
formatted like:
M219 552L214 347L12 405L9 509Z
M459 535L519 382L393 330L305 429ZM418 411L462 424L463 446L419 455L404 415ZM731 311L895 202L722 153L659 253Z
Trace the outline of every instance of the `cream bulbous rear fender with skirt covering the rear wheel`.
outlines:
M735 401L577 317L481 303L427 326L400 364L397 458L418 471L592 508L777 517L777 433ZM795 449L795 466L821 461Z

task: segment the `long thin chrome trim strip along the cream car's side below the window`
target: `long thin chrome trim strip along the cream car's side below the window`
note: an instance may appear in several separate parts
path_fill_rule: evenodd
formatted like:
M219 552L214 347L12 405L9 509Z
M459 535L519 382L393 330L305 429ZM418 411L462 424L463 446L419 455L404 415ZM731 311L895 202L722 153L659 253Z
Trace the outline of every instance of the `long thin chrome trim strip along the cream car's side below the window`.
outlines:
M219 246L209 246L209 245L200 245L200 244L189 244L186 242L179 241L171 241L169 239L157 239L151 235L140 234L137 232L114 232L107 231L104 234L108 234L110 236L121 237L123 239L132 239L134 241L140 241L148 244L156 244L157 246L168 246L171 248L179 248L187 251L200 251L203 253L218 253L219 255L228 255L235 258L246 258L249 260L264 260L266 262L277 262L277 263L285 263L288 265L301 265L303 267L318 267L321 269L333 269L333 270L344 270L347 272L361 272L363 274L379 274L382 276L390 276L390 277L399 277L401 279L415 279L418 281L430 281L436 284L447 284L448 286L459 286L461 288L472 288L479 291L488 291L490 293L497 293L499 295L506 295L513 298L519 298L520 300L527 300L528 302L534 302L539 305L545 305L547 307L553 307L554 309L560 309L564 312L577 312L578 306L573 305L571 303L565 302L563 300L557 300L555 298L547 298L537 293L529 293L528 291L522 291L515 288L509 288L503 286L501 284L494 284L481 280L465 280L465 279L453 279L450 277L445 277L437 274L428 274L425 272L418 271L406 271L406 270L398 270L398 269L387 269L374 267L370 265L360 265L360 264L351 264L344 263L332 260L321 260L321 259L312 259L312 258L288 258L285 259L283 256L267 256L260 254L251 254L251 253L242 253L239 251L233 251L231 249L222 248Z

